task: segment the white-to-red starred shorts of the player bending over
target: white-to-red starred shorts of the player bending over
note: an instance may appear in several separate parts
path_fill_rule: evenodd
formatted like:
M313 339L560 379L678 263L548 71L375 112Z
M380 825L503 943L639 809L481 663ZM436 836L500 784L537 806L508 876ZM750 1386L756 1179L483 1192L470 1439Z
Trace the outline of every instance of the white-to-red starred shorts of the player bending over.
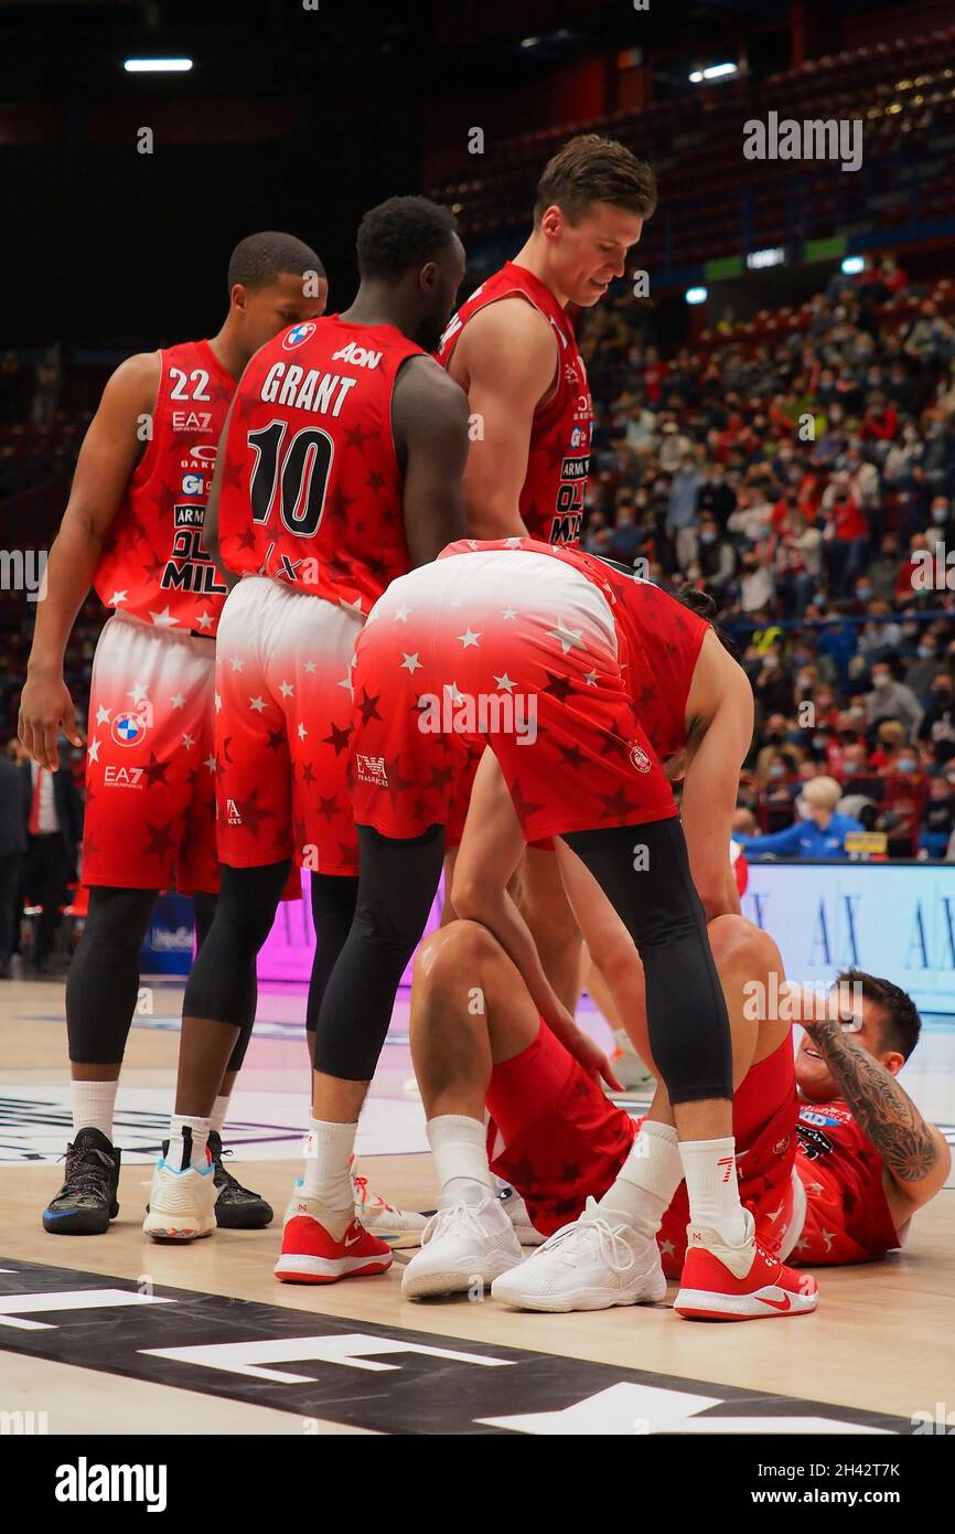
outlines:
M460 821L483 746L527 841L676 815L610 606L561 560L484 549L402 575L372 607L356 657L359 825L402 839Z

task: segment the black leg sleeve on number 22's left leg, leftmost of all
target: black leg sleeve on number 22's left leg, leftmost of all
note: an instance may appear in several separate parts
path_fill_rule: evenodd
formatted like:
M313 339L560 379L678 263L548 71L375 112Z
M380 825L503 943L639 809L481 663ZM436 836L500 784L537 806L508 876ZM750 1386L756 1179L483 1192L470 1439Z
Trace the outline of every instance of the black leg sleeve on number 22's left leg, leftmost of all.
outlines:
M78 1065L123 1060L155 904L155 890L94 885L89 891L86 928L66 979L66 1035Z

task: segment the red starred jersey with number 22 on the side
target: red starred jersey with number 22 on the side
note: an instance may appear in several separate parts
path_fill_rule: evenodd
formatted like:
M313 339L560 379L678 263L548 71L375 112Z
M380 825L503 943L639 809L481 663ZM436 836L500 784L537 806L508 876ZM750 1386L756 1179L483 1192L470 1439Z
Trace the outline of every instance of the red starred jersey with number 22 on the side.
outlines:
M216 445L235 379L207 341L159 353L152 437L109 529L94 586L158 629L215 634L225 586L202 546Z

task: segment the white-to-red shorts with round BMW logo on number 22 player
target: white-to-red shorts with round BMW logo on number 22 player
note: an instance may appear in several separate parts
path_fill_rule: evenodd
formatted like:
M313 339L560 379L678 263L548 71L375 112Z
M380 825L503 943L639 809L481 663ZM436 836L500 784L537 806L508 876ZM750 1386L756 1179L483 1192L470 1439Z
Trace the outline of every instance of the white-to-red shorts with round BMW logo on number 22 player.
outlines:
M83 884L215 893L212 640L107 618L90 681Z

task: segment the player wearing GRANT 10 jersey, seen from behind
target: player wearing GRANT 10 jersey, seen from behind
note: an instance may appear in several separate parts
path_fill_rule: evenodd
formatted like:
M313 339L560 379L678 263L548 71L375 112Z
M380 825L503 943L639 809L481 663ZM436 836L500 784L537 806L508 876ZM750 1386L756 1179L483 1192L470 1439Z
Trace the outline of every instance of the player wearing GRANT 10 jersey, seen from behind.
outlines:
M468 402L428 356L464 272L454 216L425 198L391 198L365 215L357 256L353 305L294 325L245 370L216 466L212 543L242 577L216 643L222 893L185 988L176 1114L144 1224L158 1238L215 1227L202 1163L208 1115L293 861L311 870L314 1028L359 888L346 776L354 647L388 583L434 560L463 528ZM362 693L356 703L377 712ZM351 1035L348 1020L317 1037L316 1072L350 1075ZM328 1132L313 1124L314 1135ZM314 1192L307 1175L293 1209ZM348 1229L348 1158L339 1193L343 1220L328 1252L300 1252L302 1221L287 1224L291 1276L330 1252L376 1272L391 1261L385 1243Z

